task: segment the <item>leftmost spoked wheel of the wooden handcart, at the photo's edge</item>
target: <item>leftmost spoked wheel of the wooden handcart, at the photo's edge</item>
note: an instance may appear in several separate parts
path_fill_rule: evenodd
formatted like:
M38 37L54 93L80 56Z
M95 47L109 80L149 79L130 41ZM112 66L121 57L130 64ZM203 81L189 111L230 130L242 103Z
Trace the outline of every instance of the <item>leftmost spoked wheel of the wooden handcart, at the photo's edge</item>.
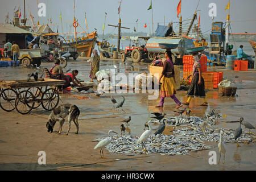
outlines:
M17 93L14 89L4 89L0 94L0 107L9 112L15 109Z

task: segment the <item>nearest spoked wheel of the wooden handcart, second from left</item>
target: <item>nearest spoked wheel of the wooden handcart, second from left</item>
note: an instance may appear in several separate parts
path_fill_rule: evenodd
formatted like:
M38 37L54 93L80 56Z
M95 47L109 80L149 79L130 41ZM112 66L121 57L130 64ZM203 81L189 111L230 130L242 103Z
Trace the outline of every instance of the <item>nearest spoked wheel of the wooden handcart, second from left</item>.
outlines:
M34 101L34 95L28 90L23 90L16 97L15 108L20 114L30 113L35 105Z

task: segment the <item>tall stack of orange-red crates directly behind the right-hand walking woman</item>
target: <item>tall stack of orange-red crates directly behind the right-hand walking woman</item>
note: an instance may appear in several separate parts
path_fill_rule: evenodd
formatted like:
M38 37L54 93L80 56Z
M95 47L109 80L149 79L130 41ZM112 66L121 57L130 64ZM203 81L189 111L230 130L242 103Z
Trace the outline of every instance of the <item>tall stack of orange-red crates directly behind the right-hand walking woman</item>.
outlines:
M201 56L200 59L201 64L201 72L207 71L207 56ZM193 71L193 56L192 55L186 55L183 56L183 78L187 79L189 75L191 75L191 72ZM189 84L191 83L192 77L189 78Z

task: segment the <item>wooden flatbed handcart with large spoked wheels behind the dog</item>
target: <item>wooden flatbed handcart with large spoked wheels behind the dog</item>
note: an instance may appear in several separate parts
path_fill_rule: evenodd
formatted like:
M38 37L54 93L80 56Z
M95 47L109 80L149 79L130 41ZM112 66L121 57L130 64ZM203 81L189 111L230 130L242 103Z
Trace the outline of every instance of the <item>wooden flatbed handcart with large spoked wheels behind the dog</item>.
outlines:
M51 78L39 78L38 81L1 81L0 107L5 111L16 109L20 114L30 113L40 105L45 110L52 110L60 100L57 86L63 85L64 82Z

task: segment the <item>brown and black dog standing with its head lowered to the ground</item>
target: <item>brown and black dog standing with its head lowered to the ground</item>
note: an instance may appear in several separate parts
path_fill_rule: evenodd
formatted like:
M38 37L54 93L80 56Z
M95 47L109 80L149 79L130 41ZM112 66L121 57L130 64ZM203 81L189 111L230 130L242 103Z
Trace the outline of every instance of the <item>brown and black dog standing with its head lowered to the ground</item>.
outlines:
M68 115L68 122L69 122L69 127L66 135L68 135L69 130L71 129L71 121L76 125L76 134L78 134L79 131L79 123L77 121L78 117L80 114L80 110L76 105L72 104L63 104L59 107L56 107L55 109L52 110L51 114L48 117L48 122L46 123L46 127L48 129L49 133L52 133L53 127L57 121L60 122L60 129L59 133L61 134L61 129L63 126L63 123L65 122L65 117Z

